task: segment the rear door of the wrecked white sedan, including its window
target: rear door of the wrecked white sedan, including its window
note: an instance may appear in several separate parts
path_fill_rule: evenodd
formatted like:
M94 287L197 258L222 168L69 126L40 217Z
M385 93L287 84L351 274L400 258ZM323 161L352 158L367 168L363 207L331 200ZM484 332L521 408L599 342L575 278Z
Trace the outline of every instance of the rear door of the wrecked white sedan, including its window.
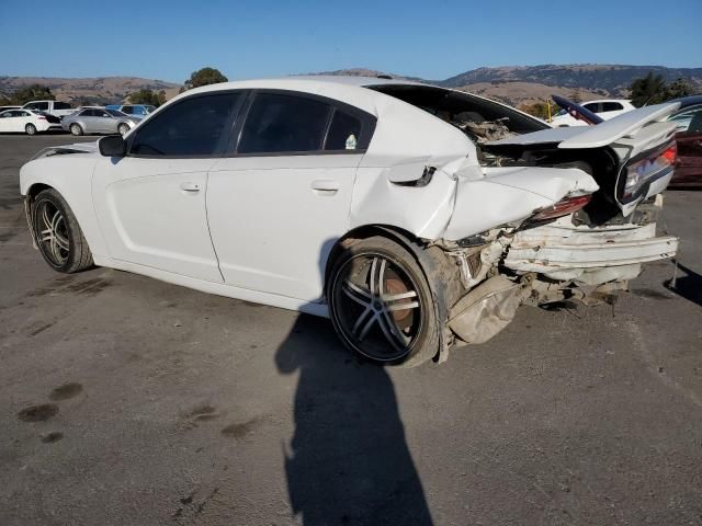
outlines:
M210 173L207 218L228 285L306 301L348 230L356 168L375 117L319 96L260 90L237 144Z

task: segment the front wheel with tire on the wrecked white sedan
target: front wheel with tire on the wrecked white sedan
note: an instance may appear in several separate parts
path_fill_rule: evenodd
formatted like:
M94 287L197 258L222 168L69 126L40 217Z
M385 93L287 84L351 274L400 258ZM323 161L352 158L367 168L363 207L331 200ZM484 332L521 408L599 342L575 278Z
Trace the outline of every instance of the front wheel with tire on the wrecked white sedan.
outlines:
M32 227L42 256L65 274L93 266L88 241L66 199L54 188L39 192L32 204Z

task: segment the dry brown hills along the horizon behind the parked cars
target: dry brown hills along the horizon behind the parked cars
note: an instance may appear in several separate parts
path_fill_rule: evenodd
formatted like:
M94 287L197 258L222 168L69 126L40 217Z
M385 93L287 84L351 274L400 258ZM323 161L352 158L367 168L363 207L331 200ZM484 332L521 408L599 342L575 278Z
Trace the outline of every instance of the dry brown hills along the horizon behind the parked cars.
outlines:
M325 71L313 75L352 75L423 81L454 88L497 99L508 104L520 105L543 101L552 94L574 96L581 100L598 98L623 98L636 78L649 71L663 76L667 81L684 79L697 93L702 93L702 68L667 68L664 66L627 65L542 65L505 66L478 68L443 80L420 79L403 75L385 73L372 69L353 68ZM73 103L105 104L125 101L129 93L140 89L166 91L167 99L174 96L181 84L139 77L94 77L66 79L53 77L0 77L0 94L9 93L22 85L39 83L48 85L58 100Z

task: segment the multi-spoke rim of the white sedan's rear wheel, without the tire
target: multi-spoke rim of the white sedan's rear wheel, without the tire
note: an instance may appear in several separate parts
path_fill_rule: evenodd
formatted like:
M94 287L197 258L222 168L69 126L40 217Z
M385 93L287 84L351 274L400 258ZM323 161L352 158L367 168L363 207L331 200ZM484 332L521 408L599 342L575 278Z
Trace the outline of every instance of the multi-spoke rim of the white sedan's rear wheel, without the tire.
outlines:
M349 260L337 275L331 301L343 339L375 361L407 356L421 336L420 289L409 273L383 254Z

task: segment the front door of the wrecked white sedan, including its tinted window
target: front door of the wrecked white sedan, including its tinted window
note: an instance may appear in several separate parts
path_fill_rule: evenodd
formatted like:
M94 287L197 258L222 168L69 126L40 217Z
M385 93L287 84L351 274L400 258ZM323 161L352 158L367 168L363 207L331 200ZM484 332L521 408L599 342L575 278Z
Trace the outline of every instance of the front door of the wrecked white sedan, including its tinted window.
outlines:
M92 193L113 259L223 281L207 228L207 172L225 150L241 98L182 99L132 134L125 157L101 158Z

